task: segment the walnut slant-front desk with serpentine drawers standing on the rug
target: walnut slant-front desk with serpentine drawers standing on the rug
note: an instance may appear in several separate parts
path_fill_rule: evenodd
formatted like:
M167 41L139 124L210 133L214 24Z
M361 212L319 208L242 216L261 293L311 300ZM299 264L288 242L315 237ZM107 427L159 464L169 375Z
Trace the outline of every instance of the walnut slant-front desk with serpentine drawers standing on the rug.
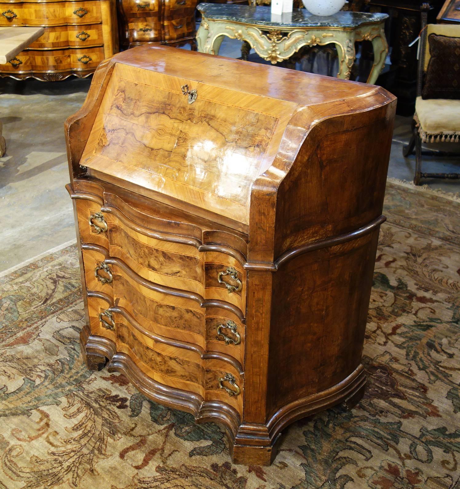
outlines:
M235 463L353 406L394 110L371 85L164 46L106 60L66 121L88 368L221 423Z

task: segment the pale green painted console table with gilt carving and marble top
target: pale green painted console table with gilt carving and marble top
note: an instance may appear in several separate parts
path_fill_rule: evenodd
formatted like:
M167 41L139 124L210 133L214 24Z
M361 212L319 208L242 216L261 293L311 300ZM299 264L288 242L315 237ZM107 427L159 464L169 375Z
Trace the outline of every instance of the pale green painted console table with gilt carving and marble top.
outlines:
M371 41L374 62L368 83L375 83L385 64L387 14L338 12L318 17L305 9L271 16L270 7L200 3L203 18L197 32L198 51L219 54L223 36L246 41L256 53L272 64L288 59L302 46L335 44L339 57L339 78L350 78L355 60L354 43Z

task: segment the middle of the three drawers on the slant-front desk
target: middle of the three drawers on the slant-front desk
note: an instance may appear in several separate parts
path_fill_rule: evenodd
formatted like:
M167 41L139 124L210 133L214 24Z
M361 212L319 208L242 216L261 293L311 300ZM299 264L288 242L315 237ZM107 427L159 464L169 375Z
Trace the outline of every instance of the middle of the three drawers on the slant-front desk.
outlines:
M130 268L107 259L108 253L101 250L83 250L85 281L89 291L110 298L107 308L121 309L129 322L137 322L146 331L233 356L243 365L241 315L214 305L200 307L192 298L154 290L151 283L140 283Z

